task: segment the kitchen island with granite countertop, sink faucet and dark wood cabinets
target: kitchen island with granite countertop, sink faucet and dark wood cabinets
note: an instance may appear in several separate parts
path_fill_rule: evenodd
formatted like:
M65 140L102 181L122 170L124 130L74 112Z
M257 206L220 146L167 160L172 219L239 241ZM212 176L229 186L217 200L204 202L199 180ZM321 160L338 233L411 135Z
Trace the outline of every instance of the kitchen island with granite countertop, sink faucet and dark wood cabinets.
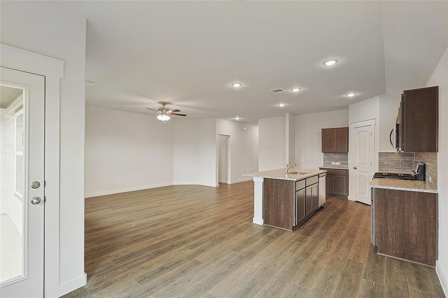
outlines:
M254 224L293 230L325 205L326 170L248 173L254 178Z

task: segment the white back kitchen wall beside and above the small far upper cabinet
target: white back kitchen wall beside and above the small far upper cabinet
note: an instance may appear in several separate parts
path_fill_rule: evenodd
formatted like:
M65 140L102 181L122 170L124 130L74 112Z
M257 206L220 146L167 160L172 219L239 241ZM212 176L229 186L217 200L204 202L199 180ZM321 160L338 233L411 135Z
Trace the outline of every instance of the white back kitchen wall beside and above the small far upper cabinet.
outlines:
M295 160L299 168L317 169L323 165L323 128L347 126L349 110L296 115Z

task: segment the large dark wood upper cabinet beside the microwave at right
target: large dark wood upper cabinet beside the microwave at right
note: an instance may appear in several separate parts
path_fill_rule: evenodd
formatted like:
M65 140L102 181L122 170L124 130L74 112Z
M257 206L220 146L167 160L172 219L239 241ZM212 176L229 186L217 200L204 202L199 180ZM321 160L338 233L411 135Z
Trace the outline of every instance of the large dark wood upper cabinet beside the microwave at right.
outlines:
M438 152L439 87L405 90L398 113L404 152Z

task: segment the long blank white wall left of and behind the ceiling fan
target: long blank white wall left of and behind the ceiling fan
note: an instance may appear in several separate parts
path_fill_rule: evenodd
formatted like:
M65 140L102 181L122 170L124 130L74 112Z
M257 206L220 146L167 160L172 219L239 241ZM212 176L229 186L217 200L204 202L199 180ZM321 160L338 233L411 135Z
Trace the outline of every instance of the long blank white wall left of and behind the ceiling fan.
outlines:
M85 196L172 185L173 146L172 121L87 105Z

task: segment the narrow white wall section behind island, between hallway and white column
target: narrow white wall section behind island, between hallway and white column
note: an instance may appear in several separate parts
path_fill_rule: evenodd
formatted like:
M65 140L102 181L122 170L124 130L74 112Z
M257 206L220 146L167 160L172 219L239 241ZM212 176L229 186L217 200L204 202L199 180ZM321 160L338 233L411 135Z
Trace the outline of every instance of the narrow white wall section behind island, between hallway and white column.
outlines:
M267 171L285 166L285 117L258 120L258 170Z

